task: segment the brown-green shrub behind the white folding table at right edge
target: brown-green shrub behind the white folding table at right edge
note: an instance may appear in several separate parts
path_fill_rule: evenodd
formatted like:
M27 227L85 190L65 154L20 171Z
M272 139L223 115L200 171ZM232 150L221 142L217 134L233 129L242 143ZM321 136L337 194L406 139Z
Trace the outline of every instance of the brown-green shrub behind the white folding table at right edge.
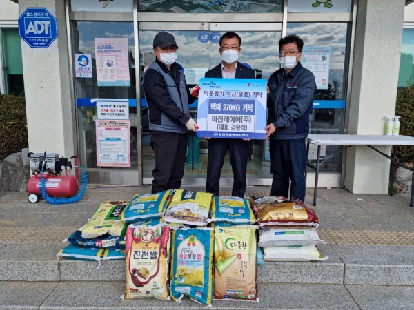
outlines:
M395 115L400 118L400 134L414 136L414 85L407 81L408 87L401 88L397 92ZM402 163L412 162L414 159L414 147L399 146L397 148L397 161Z

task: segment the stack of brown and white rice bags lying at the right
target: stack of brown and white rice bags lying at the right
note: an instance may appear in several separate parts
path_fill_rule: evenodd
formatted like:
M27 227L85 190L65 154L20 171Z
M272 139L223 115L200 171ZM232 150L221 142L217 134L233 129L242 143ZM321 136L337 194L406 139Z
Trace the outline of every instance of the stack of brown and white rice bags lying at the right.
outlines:
M251 199L259 224L259 243L265 261L327 260L316 247L319 219L299 199L270 196Z

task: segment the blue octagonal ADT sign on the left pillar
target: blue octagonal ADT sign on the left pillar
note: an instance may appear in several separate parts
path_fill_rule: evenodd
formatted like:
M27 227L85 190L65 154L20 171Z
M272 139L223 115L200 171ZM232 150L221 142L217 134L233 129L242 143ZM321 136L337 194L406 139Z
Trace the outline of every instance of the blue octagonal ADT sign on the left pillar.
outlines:
M30 48L48 48L57 38L56 18L46 8L27 8L19 17L19 35Z

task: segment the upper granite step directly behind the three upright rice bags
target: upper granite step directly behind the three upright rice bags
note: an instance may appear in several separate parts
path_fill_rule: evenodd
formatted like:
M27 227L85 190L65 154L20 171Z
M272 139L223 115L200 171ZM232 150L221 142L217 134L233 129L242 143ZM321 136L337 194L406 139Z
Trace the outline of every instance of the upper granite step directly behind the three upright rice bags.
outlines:
M57 261L62 243L0 243L3 281L124 281L125 262ZM414 247L320 245L324 262L265 262L257 282L414 285Z

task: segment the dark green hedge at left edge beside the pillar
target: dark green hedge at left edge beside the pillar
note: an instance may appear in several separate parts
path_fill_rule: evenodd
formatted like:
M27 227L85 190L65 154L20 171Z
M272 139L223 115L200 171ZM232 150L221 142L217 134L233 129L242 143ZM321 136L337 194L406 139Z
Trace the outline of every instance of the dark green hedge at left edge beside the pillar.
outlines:
M0 161L28 147L24 97L0 94Z

